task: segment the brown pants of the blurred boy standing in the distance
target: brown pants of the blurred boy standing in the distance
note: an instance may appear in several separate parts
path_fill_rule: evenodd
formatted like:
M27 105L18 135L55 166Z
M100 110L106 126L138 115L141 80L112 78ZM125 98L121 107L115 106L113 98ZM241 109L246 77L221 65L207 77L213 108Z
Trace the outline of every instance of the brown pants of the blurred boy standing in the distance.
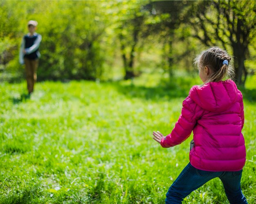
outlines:
M34 90L34 84L37 79L36 71L38 68L38 59L24 59L25 61L25 70L26 70L26 79L27 79L27 90L29 94Z

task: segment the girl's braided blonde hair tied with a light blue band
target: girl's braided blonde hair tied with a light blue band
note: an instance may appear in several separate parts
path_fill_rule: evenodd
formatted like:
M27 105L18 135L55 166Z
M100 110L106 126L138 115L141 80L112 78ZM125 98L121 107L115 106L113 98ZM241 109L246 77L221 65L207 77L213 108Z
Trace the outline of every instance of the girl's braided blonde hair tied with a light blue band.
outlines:
M230 63L231 57L226 50L222 50L219 47L211 47L204 50L200 55L194 59L194 64L198 69L202 69L207 66L211 75L205 83L221 81L225 77L234 77L234 68ZM223 61L227 60L227 64L223 64Z

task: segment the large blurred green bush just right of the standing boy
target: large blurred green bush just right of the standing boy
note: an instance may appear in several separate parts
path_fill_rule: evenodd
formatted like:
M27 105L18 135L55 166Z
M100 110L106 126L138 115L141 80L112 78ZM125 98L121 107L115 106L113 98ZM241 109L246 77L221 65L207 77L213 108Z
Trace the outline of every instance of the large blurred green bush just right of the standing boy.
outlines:
M48 2L45 2L48 4ZM104 18L92 2L51 2L40 21L41 79L96 79L101 76L100 37ZM56 9L58 8L58 9Z

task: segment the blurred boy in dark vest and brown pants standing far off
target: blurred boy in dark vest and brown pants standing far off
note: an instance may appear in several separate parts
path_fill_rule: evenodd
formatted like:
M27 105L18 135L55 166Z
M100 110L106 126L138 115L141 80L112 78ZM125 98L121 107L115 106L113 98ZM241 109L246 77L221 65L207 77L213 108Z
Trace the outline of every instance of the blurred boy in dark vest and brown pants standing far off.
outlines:
M27 89L29 95L34 91L34 84L37 79L38 58L40 57L39 46L42 36L36 33L38 23L30 20L27 24L29 33L22 37L20 46L19 62L25 63Z

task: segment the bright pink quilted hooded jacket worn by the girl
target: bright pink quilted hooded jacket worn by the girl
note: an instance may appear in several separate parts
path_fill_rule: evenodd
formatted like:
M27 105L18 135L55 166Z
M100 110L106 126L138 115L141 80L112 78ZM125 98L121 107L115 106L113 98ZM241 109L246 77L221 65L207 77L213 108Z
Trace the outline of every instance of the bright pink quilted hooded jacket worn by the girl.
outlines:
M205 171L243 169L243 96L234 81L193 86L182 105L173 131L161 141L162 147L182 143L193 130L194 146L189 153L193 167Z

